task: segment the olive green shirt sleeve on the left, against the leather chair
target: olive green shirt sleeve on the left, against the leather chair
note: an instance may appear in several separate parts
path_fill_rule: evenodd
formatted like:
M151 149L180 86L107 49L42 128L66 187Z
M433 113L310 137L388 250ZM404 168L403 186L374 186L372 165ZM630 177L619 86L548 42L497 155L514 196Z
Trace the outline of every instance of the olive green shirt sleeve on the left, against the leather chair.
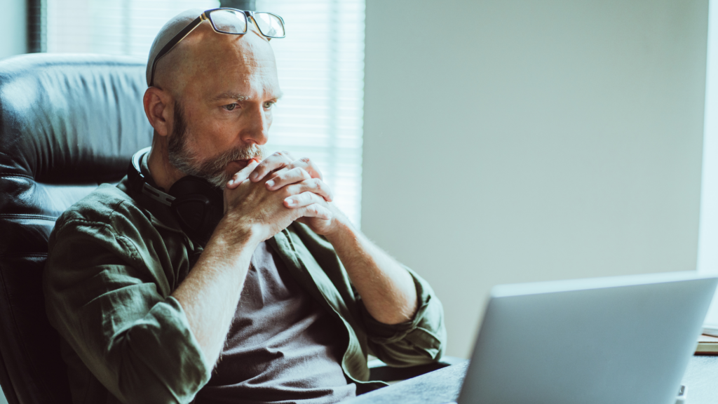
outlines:
M50 246L47 316L90 372L123 403L190 403L211 369L151 257L82 220L56 227Z

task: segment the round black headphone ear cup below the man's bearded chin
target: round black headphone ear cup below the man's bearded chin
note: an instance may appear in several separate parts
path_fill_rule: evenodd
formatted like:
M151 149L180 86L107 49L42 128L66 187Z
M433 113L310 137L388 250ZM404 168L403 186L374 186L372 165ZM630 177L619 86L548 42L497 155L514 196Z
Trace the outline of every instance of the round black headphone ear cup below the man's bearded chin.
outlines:
M169 195L174 196L172 211L182 230L191 239L206 244L224 215L222 190L207 180L187 175L169 188Z

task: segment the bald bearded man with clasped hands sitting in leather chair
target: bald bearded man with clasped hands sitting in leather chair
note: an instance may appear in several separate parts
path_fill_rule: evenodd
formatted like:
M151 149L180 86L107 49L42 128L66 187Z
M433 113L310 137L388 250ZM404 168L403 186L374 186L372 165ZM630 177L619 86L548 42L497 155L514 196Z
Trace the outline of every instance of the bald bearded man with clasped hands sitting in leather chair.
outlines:
M124 178L57 220L44 287L73 401L335 403L382 386L367 354L438 359L429 285L353 228L311 160L265 158L281 95L266 27L225 35L223 14L200 14L152 45L137 175L161 193L188 175L220 185L224 214L202 240Z

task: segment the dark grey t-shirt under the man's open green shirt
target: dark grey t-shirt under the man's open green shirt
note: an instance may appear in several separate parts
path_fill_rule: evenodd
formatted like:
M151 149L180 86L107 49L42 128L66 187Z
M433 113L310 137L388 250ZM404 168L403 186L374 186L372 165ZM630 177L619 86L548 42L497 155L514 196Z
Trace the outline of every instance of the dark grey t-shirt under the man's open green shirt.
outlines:
M354 397L341 324L259 244L225 348L197 404L336 403Z

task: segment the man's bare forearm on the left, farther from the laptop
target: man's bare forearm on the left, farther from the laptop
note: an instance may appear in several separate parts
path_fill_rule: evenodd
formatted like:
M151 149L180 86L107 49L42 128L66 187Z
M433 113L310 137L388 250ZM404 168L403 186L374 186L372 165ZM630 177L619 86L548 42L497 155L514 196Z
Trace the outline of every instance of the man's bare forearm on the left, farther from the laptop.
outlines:
M172 293L187 314L210 368L222 352L257 245L248 234L230 237L221 230L215 233L189 275Z

